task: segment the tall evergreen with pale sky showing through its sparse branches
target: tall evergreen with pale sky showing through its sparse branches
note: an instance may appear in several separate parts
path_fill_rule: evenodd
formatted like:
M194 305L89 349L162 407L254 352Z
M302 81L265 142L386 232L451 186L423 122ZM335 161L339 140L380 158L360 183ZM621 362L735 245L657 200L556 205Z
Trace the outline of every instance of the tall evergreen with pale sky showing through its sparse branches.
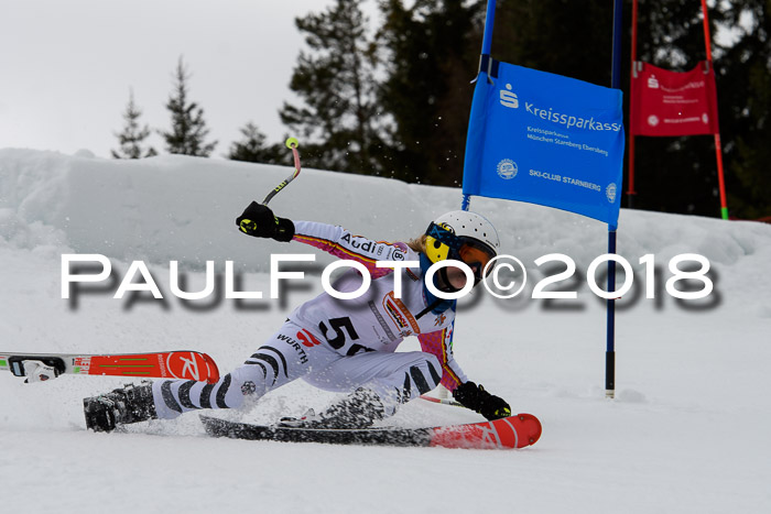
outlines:
M373 174L383 152L382 116L374 91L378 61L361 2L336 0L322 13L295 19L311 52L301 52L290 88L304 105L284 103L280 114L303 135L310 166Z

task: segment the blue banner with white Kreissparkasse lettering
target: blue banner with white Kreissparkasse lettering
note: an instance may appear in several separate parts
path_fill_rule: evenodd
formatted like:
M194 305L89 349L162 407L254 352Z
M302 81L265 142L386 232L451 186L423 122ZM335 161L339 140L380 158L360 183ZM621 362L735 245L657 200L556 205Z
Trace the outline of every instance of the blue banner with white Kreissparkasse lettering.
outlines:
M615 227L621 91L507 63L477 81L463 192L528 201Z

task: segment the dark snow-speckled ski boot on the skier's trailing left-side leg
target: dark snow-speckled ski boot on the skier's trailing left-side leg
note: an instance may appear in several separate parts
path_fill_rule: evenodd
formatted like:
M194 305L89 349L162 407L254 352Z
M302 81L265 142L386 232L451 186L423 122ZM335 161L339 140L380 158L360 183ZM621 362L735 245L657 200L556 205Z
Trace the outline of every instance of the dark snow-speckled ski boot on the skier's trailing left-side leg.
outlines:
M111 393L84 398L86 428L94 431L112 431L118 425L156 419L152 382L139 385L126 384Z

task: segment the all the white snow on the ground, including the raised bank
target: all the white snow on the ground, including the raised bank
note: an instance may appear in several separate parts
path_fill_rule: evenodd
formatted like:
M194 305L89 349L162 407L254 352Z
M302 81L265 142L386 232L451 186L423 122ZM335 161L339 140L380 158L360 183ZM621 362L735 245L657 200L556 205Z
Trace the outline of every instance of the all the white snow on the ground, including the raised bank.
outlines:
M249 201L262 200L291 171L0 150L0 352L195 349L222 371L238 365L321 291L318 272L329 262L318 255L297 265L306 278L271 299L271 253L313 251L236 228ZM271 207L282 217L405 240L459 201L459 189L304 169ZM82 398L124 381L63 376L24 384L3 373L3 512L771 512L771 227L622 210L618 251L633 265L634 282L618 302L618 394L608 401L605 305L586 285L589 264L606 252L606 227L496 199L474 198L471 208L492 220L502 252L525 264L529 280L514 299L479 288L460 302L456 359L515 412L541 418L544 433L534 447L220 440L204 435L195 414L94 434L85 430ZM104 283L73 286L63 299L62 255L73 253L106 255L112 273ZM577 291L576 299L531 298L539 281L564 270L534 264L552 253L575 261L576 274L556 287ZM707 298L666 293L667 264L683 253L708 259L715 287ZM645 254L658 270L649 278L639 263ZM113 298L140 260L163 298L146 292ZM175 297L170 261L180 263L185 291L203 288L206 261L214 261L215 294ZM263 299L224 297L226 261L235 264L240 291L261 291ZM654 299L645 298L647 280L654 281ZM247 413L217 415L271 422L332 400L297 382ZM480 417L417 401L389 423L471 420Z

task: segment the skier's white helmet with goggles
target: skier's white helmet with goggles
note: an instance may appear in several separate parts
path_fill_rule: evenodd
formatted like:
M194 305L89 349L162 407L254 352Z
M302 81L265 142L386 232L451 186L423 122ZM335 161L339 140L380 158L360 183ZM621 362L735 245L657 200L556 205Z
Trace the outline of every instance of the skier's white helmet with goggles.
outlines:
M425 233L426 256L431 262L454 259L469 265L478 264L477 281L500 250L498 232L490 220L467 210L439 216Z

